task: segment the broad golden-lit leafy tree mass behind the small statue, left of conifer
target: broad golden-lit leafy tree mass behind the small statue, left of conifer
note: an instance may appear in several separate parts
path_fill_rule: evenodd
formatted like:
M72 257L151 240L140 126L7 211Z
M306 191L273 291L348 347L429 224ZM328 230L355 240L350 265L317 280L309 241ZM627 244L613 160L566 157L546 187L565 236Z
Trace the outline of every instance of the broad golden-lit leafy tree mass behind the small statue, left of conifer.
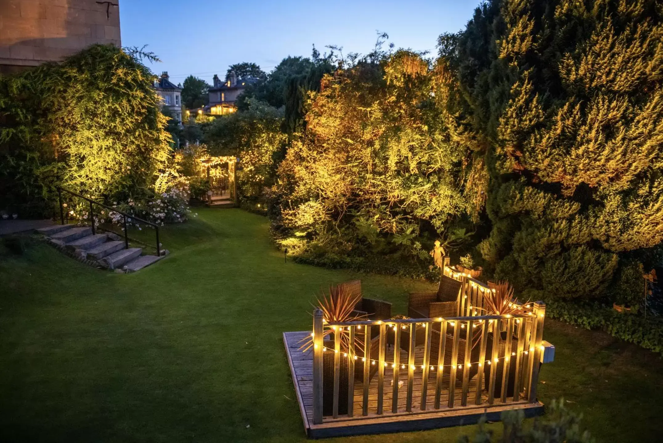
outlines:
M432 99L436 75L399 50L323 78L278 170L284 237L303 233L319 259L378 253L428 265L422 238L469 212L457 184L463 147Z

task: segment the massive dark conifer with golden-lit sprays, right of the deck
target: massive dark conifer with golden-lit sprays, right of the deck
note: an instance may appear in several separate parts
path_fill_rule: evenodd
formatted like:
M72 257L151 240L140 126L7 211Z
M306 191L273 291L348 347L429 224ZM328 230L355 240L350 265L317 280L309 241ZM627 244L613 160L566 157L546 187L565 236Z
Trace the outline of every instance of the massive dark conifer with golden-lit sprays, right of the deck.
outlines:
M492 0L446 51L489 176L496 278L600 296L661 243L662 37L654 0Z

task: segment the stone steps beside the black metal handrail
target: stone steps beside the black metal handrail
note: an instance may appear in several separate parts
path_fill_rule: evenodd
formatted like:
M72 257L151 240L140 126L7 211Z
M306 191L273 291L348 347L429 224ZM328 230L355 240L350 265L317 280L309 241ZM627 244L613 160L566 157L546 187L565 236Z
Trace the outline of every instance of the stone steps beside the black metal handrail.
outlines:
M141 247L125 249L125 242L116 234L93 234L92 228L86 226L52 225L40 227L36 232L77 259L107 269L135 272L164 257L143 255Z

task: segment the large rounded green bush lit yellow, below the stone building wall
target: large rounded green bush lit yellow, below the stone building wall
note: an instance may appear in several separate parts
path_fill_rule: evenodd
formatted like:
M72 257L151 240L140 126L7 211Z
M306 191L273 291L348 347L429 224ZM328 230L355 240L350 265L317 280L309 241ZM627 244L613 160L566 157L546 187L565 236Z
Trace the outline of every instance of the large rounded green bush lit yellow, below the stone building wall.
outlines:
M0 77L0 199L41 198L50 216L55 184L101 199L145 194L171 140L154 76L138 57L97 44Z

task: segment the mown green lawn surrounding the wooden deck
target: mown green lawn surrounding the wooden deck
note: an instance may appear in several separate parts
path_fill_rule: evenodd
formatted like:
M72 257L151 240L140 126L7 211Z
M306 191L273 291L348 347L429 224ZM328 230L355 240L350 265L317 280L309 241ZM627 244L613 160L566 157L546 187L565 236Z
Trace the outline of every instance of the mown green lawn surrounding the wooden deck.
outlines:
M306 440L281 333L310 328L314 294L357 274L284 263L260 216L198 213L162 229L172 254L131 275L40 243L0 255L1 442ZM430 286L359 277L395 312ZM550 320L544 338L556 345L544 403L564 396L601 441L659 439L660 357ZM342 441L453 442L472 430Z

